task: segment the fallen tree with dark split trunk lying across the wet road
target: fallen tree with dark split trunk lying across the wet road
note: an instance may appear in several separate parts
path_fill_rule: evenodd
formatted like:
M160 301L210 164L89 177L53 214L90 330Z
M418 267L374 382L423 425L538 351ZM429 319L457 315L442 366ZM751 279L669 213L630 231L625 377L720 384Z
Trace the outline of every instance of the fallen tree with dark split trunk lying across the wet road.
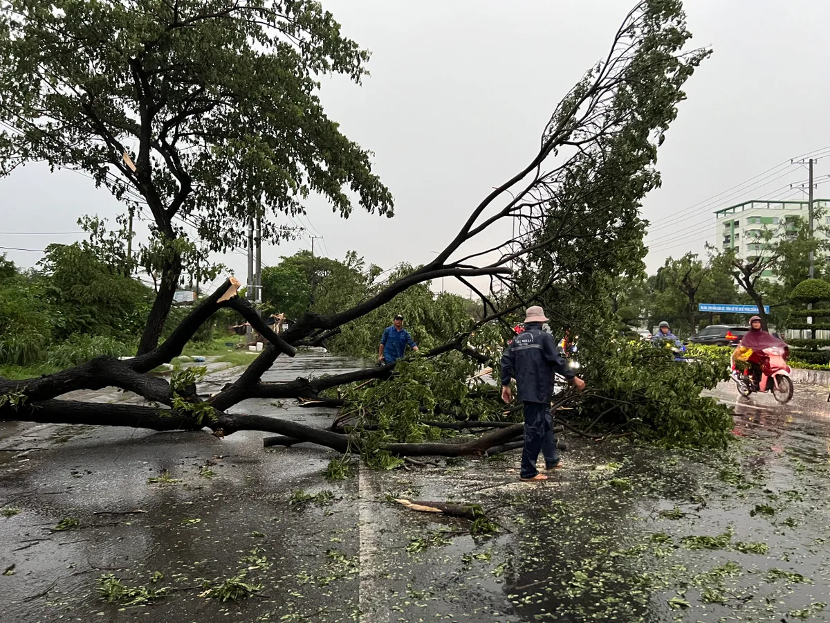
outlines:
M229 12L237 10L241 10L238 4L228 9ZM200 15L193 19L214 19L217 26L222 23L221 16ZM453 443L437 440L440 435L435 431L447 432L449 428L428 422L434 419L437 403L445 400L452 404L445 405L442 413L452 412L452 421L457 421L459 414L461 419L499 419L496 414L502 406L497 395L476 394L461 389L459 383L483 363L493 361L509 334L510 326L505 318L531 302L561 297L572 287L595 287L608 276L631 270L642 258L644 223L638 208L642 196L656 184L657 146L676 115L677 102L684 97L681 86L708 54L684 52L682 47L689 37L681 2L639 2L625 17L608 56L588 71L556 107L542 131L538 153L471 210L456 236L436 258L393 282L374 285L364 300L354 306L330 315L306 312L290 329L277 335L251 304L237 295L239 283L231 277L194 307L168 339L157 346L158 321L167 305L159 302L148 321L139 355L132 359L96 357L53 375L0 380L0 419L155 430L207 428L220 437L239 430L261 430L338 452L359 450L364 456L380 459L429 454L464 456L513 447L511 444L521 434L520 423L494 426L474 439ZM143 70L134 70L141 86ZM153 95L147 88L141 93L145 99ZM143 102L142 105L147 104ZM186 117L188 122L193 122L190 115L195 113L187 105ZM99 122L114 123L109 118ZM182 189L190 183L181 169L183 165L176 161L178 152L164 142L154 143L154 140L167 140L173 130L179 130L178 125L164 124L159 128L152 119L142 116L138 127L130 125L128 130L141 135L142 150L154 146L173 167L171 181L178 179L183 185L178 194L171 189L168 199L180 206L187 197L187 193L180 196ZM144 136L145 132L149 138ZM117 145L117 141L110 140L110 148L112 145ZM127 181L138 184L143 192L159 192L146 177L149 156L139 152L139 166L134 170L125 168L120 160L122 152L126 153L125 150L118 153L117 166ZM125 158L124 162L128 160ZM251 180L256 179L256 175L251 176ZM370 179L364 181L374 184ZM122 187L115 184L113 188ZM385 200L380 196L383 193L376 190L374 203L367 199L370 206ZM158 210L154 208L154 214ZM169 218L164 219L168 223ZM499 232L509 230L514 221L520 224L518 235L501 238L495 245L481 242L491 241ZM178 260L173 258L170 262L168 272L178 274ZM574 285L574 276L582 283ZM178 278L175 274L173 277ZM173 277L165 273L164 279ZM476 292L484 313L479 321L470 321L466 331L425 356L339 375L287 382L262 380L280 356L295 356L299 346L323 345L342 327L393 301L409 287L444 277L455 278ZM168 290L169 287L161 288L159 297L168 296ZM192 373L173 375L169 382L150 374L157 366L178 356L198 327L225 308L250 322L268 342L237 380L203 400L195 391L194 383L198 379ZM452 373L447 372L441 379L432 375L431 385L421 388L430 392L429 395L412 395L415 390L410 385L409 398L405 401L408 411L398 413L397 424L383 410L356 415L346 432L228 411L251 398L344 400L342 406L349 410L355 405L365 405L367 390L394 389L393 380L405 374L402 368L409 367L411 371L411 366L424 365L425 361L431 361L433 366L443 365L445 372L452 369ZM369 380L376 382L367 387ZM99 405L60 398L72 390L105 386L133 391L148 404ZM346 388L344 398L325 395L327 390L338 387ZM364 392L359 400L354 400L358 391L355 388ZM369 400L378 400L378 394L369 395ZM561 404L572 402L573 396L566 395ZM422 412L424 408L426 413ZM516 415L515 410L512 415ZM564 420L562 423L566 428L576 429ZM603 437L600 433L585 434ZM430 435L434 439L427 439Z

